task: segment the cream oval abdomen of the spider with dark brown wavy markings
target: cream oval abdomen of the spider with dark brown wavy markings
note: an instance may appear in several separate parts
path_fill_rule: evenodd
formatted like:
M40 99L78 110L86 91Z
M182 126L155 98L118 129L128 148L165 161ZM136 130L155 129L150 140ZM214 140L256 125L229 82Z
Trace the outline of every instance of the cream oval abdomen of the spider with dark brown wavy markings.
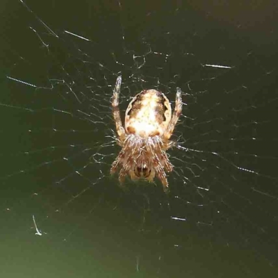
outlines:
M142 138L162 136L171 117L170 101L162 92L143 90L126 109L125 129Z

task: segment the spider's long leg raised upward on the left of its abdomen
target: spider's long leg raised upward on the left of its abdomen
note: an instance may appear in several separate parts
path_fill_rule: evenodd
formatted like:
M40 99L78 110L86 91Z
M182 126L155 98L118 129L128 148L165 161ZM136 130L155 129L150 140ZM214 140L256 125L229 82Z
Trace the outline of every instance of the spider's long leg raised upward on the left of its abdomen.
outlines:
M117 135L120 138L120 141L124 141L126 138L126 132L124 131L124 127L122 126L122 120L119 109L119 95L122 84L122 76L117 76L117 81L113 90L112 97L112 113L116 124Z

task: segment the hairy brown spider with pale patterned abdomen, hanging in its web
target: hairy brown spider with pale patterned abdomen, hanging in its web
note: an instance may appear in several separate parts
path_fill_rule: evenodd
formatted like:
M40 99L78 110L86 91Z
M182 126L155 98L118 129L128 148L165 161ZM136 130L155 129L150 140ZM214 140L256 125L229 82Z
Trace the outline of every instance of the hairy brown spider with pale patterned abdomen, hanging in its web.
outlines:
M158 177L167 192L168 181L165 172L172 172L173 165L166 154L174 145L170 137L181 115L181 89L177 88L174 113L170 101L157 90L142 90L126 109L122 126L119 109L119 94L122 76L117 77L112 97L112 112L117 131L117 143L122 147L113 162L111 174L120 170L122 183L129 175L131 179L147 179L152 182Z

